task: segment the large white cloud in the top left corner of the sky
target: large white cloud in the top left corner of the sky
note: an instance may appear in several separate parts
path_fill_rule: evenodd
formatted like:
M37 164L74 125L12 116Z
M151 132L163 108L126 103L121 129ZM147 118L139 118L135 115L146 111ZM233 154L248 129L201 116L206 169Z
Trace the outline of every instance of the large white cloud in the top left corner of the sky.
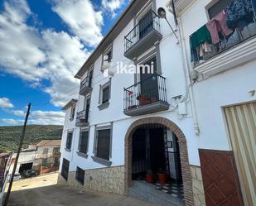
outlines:
M26 1L4 2L4 11L0 13L0 64L7 73L39 81L46 73L46 69L38 67L45 55L36 29L26 25L29 15Z

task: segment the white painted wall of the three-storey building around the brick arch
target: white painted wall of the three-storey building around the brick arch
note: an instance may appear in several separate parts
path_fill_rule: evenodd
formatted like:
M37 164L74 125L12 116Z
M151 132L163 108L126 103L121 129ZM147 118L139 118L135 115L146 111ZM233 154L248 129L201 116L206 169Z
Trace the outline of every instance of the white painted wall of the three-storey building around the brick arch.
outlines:
M157 7L166 7L167 1L157 0ZM173 18L170 13L167 13L167 18L171 22L172 26L175 26ZM110 70L115 71L115 65L117 61L123 61L126 64L133 64L131 60L126 59L123 56L124 46L123 38L129 31L133 29L133 21L123 29L113 42L113 63ZM162 41L160 42L160 55L162 65L162 76L166 77L167 84L167 98L168 102L171 102L171 97L176 95L186 95L188 89L186 88L186 76L182 65L181 46L176 44L176 38L171 33L171 28L167 26L167 22L161 19ZM127 88L134 84L134 74L114 74L111 84L111 99L109 101L109 108L99 111L99 85L104 84L109 80L104 78L100 71L101 56L94 63L94 79L93 79L93 92L91 95L91 107L89 116L89 152L88 158L85 159L77 155L80 128L75 127L74 122L69 121L70 108L66 111L65 127L61 142L61 158L60 158L60 170L62 165L62 158L70 160L70 171L75 171L76 166L80 166L82 169L94 169L101 168L104 165L100 165L94 162L91 156L94 148L94 127L95 125L104 124L108 122L113 123L113 145L112 145L112 165L124 165L124 137L128 130L128 127L137 119L142 117L167 117L172 122L175 122L178 127L181 128L186 136L189 161L191 165L200 165L198 156L198 137L194 132L194 123L191 115L191 103L190 98L186 103L188 114L184 118L179 118L177 109L170 107L169 111L163 113L153 113L140 117L128 117L123 114L123 88ZM85 78L86 74L81 80ZM84 98L79 98L80 108L81 104L84 104ZM172 111L174 110L174 111ZM68 130L73 130L73 141L71 151L65 151L65 141Z

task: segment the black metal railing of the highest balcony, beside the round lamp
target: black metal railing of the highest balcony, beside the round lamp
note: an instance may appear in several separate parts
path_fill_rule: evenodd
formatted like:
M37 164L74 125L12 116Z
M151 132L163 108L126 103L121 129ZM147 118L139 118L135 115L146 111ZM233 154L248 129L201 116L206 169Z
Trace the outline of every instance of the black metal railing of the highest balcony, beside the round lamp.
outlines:
M132 31L130 31L127 36L124 36L124 52L127 52L152 30L156 30L160 33L160 19L155 12L150 10L142 17L138 24L133 27Z

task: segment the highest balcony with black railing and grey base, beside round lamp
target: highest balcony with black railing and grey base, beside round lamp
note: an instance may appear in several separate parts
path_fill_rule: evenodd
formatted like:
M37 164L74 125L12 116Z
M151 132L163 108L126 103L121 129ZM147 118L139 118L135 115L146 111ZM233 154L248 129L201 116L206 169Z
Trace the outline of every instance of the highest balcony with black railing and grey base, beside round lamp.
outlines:
M133 60L161 40L159 17L151 10L124 36L124 56Z

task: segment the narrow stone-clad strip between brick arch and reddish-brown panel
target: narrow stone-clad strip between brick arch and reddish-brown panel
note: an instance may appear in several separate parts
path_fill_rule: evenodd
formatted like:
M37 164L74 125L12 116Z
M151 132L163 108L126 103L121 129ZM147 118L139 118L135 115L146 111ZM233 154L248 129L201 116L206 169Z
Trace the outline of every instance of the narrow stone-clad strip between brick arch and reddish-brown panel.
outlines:
M191 165L193 197L195 206L205 206L205 192L199 166Z

